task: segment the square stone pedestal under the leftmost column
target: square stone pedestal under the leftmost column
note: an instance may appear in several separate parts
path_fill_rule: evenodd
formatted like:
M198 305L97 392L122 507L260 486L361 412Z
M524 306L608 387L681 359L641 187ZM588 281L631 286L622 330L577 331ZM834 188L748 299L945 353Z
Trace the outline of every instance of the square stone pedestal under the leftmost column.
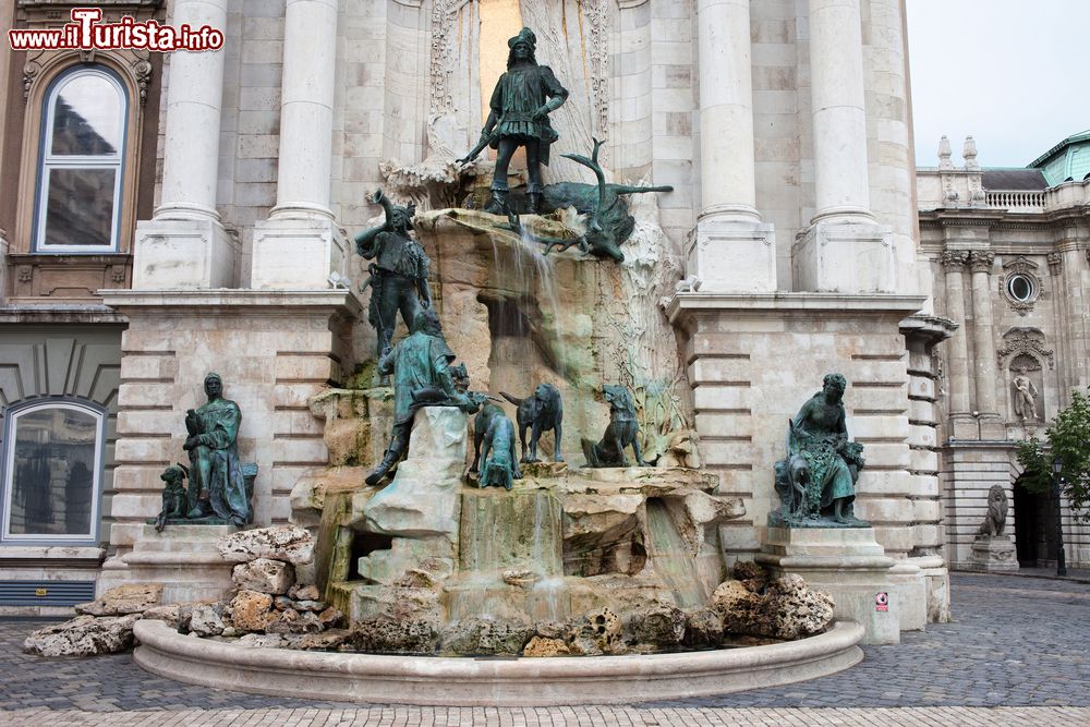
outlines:
M238 259L238 241L214 219L141 220L133 289L232 288Z

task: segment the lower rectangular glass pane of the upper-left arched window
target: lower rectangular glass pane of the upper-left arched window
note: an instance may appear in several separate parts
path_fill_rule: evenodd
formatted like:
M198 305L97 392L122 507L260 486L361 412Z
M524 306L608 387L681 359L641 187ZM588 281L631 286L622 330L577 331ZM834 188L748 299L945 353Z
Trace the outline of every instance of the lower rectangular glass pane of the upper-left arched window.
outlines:
M47 245L109 245L114 169L52 169L46 201Z

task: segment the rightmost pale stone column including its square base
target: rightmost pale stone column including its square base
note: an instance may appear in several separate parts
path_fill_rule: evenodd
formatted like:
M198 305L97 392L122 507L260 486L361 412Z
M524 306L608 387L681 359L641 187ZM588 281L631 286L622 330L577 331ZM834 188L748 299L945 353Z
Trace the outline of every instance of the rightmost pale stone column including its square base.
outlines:
M859 0L810 0L814 208L792 251L795 284L841 293L894 292L893 230L874 223Z

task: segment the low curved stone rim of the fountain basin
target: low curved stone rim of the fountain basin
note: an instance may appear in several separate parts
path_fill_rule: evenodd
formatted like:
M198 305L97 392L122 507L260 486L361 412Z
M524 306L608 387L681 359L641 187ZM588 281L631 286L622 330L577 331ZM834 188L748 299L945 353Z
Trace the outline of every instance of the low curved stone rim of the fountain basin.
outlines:
M136 663L161 677L275 696L380 704L628 704L775 687L863 659L863 627L766 646L627 656L468 658L253 649L135 625Z

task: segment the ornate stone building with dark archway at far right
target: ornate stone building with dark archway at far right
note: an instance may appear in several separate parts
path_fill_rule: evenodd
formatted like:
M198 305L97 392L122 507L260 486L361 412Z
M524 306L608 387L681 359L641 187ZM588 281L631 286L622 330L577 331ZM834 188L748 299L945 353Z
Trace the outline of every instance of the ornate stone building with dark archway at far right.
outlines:
M1015 447L1043 437L1071 391L1090 385L1090 133L1026 168L982 167L977 156L969 137L955 166L944 137L938 166L917 170L935 310L961 322L936 351L946 557L953 567L979 566L973 537L989 489L1002 485L1017 560L1054 566L1055 506L1015 486ZM1067 562L1085 567L1090 531L1066 504L1062 518Z

